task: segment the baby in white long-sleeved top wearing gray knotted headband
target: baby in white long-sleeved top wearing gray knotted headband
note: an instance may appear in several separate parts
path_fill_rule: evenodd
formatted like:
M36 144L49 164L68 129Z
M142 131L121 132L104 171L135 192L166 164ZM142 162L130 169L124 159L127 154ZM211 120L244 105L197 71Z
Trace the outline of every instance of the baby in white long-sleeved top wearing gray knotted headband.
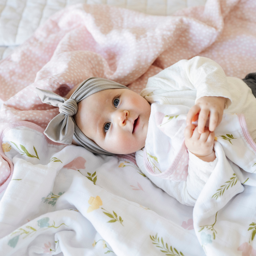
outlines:
M185 180L166 180L161 186L183 204L195 204L216 165L214 131L221 123L224 109L226 113L244 113L250 135L256 140L253 118L256 99L250 88L241 79L227 78L217 63L204 57L179 61L148 79L141 95L116 82L98 78L87 79L73 88L67 95L68 100L40 89L38 95L44 103L60 108L60 114L47 126L47 137L55 142L82 145L93 153L137 152L138 166L156 184L159 182L148 174L143 160L145 144L159 141L152 140L154 133L147 137L153 116L151 105L182 106L181 112L186 114L183 133L189 152L189 173ZM162 124L163 118L157 127ZM194 175L200 166L203 175ZM174 190L170 192L167 186Z

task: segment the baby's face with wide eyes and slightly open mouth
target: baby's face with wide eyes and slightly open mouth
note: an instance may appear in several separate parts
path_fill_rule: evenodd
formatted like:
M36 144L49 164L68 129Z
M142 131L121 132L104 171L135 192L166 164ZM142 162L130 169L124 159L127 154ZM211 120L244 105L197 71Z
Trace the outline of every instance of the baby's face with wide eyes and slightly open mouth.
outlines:
M94 93L78 104L80 130L113 154L130 154L145 146L151 106L127 89Z

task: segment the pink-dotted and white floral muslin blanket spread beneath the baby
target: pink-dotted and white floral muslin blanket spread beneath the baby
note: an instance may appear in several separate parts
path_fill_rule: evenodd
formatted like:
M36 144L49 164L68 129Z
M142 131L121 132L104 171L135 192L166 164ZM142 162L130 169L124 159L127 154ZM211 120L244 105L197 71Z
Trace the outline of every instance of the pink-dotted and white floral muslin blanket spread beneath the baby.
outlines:
M131 156L95 156L47 140L42 132L58 109L35 92L65 96L90 76L140 92L148 77L195 55L243 78L256 67L255 12L254 0L208 0L169 17L75 5L1 61L0 254L255 253L253 186L218 203L222 208L181 205ZM231 185L217 200L232 197L230 191Z

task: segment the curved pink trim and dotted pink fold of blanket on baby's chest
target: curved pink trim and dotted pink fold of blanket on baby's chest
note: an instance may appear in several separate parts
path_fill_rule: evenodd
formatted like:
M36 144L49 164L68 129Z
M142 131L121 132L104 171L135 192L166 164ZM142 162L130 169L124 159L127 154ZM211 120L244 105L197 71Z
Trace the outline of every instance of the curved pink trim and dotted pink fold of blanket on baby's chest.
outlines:
M182 162L182 158L184 158L183 161L185 161L186 163L183 165L183 168L179 172L175 173L178 170L178 164ZM170 166L169 169L167 169L166 171L159 174L156 174L153 171L150 163L148 162L146 150L144 150L143 162L148 173L154 177L159 177L167 180L176 180L176 181L186 180L186 177L188 175L187 166L189 162L189 157L188 157L188 152L185 145L185 140L183 141L180 151L178 152L175 160L173 161L172 166ZM183 175L183 178L177 178L177 176L182 176L182 175Z

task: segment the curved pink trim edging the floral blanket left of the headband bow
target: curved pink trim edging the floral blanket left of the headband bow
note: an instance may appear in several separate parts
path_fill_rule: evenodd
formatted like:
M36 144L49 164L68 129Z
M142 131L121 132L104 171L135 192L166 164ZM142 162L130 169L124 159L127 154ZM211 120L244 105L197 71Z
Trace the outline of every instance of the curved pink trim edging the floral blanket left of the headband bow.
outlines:
M36 125L36 124L34 124L32 122L27 122L27 121L12 122L12 123L6 125L3 128L3 130L1 131L1 134L0 134L0 145L1 145L1 147L0 147L0 156L3 157L3 159L9 164L11 173L10 173L9 177L7 178L7 180L5 181L5 183L3 183L0 186L0 193L3 192L3 190L5 190L7 188L9 182L12 179L12 175L13 175L13 163L12 163L12 161L8 157L6 157L6 155L3 152L3 147L2 147L3 137L4 137L4 135L6 134L7 131L9 131L12 128L18 127L18 126L24 126L24 127L27 127L27 128L31 128L31 129L34 129L35 131L39 131L40 133L44 134L44 129L43 128L41 128L40 126L38 126L38 125ZM44 135L44 137L47 140L47 143L49 143L49 144L63 145L61 143L53 142L52 140L50 140L45 135Z

